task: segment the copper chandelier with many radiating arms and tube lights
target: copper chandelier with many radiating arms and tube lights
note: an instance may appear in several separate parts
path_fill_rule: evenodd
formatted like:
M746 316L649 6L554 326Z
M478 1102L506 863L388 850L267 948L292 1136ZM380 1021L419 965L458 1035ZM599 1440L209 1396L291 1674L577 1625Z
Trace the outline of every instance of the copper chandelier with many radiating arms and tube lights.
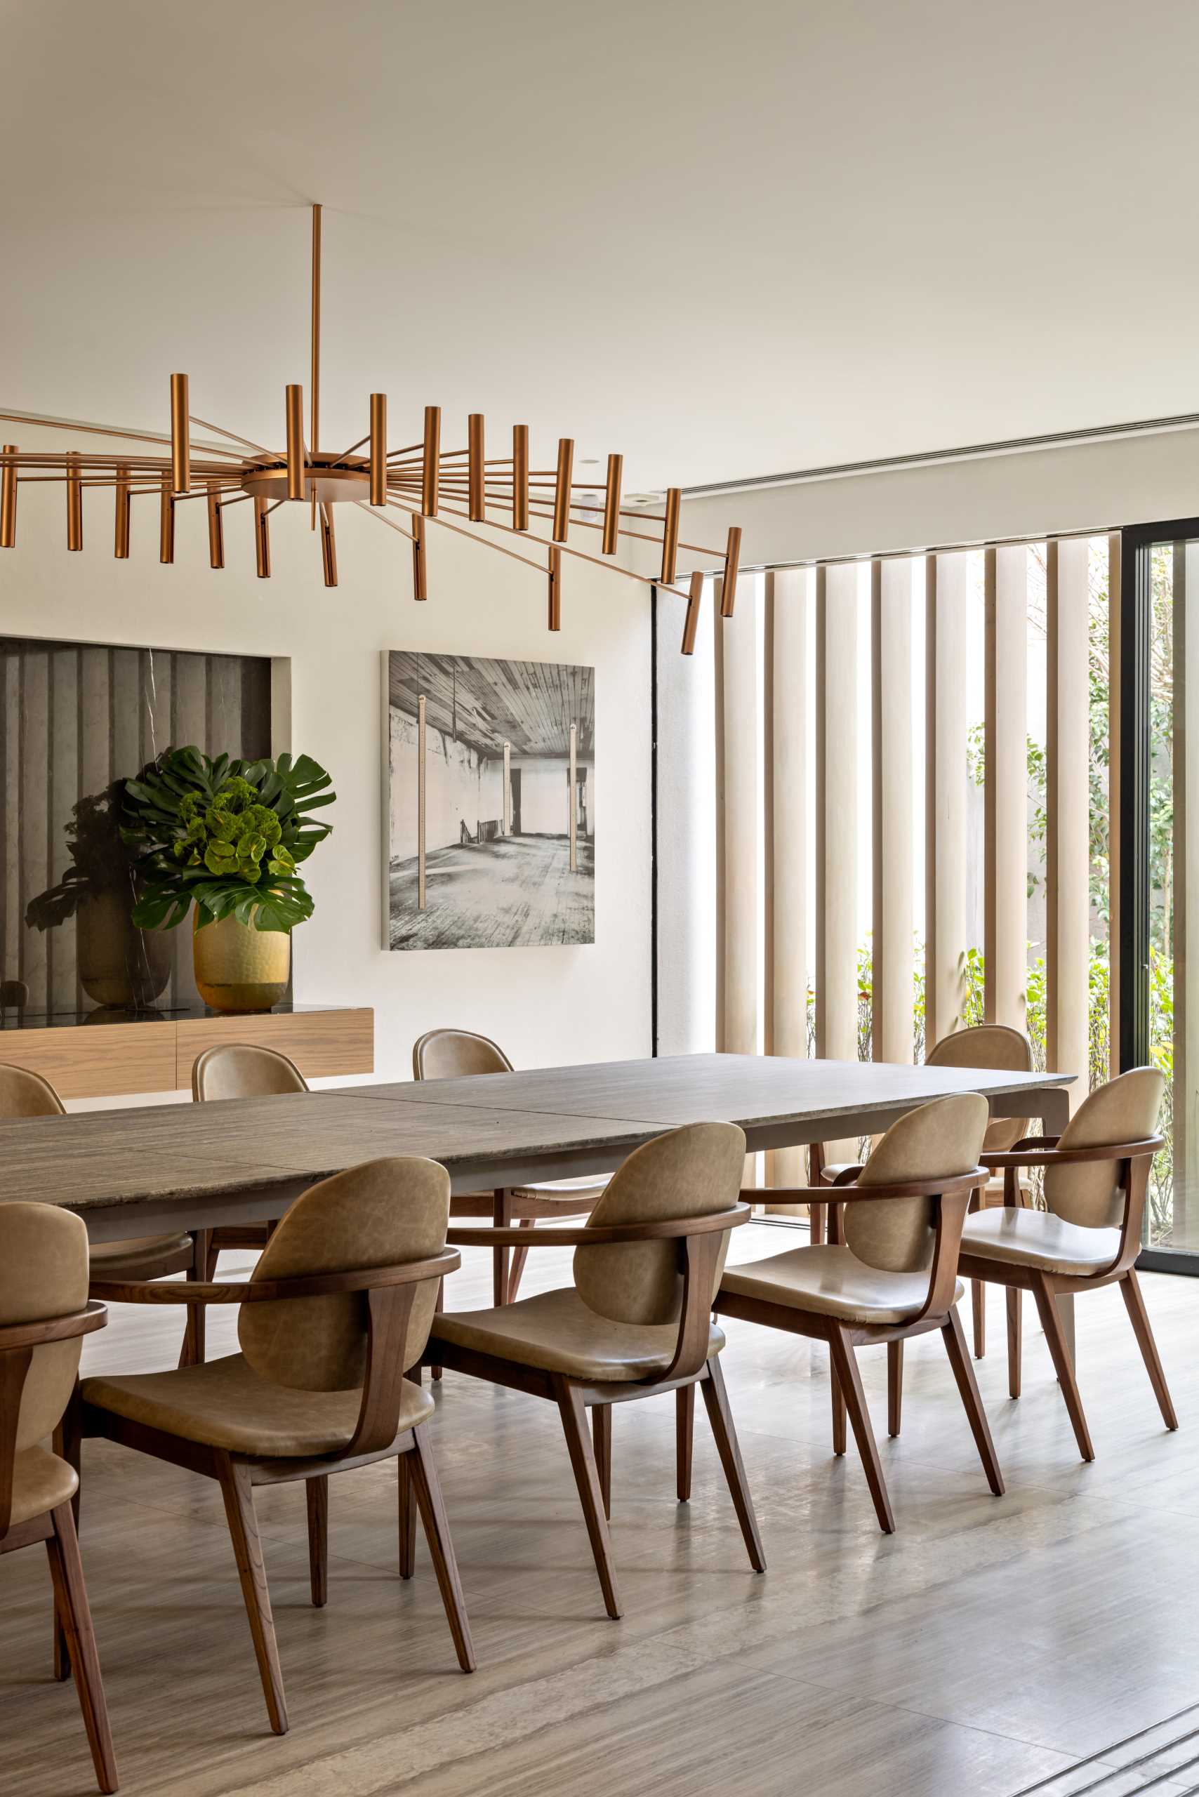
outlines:
M58 482L67 492L67 548L83 548L83 494L84 489L104 487L115 500L115 543L117 559L129 553L129 510L135 498L158 494L160 528L158 559L174 561L174 507L185 500L203 498L209 510L209 562L212 568L225 566L225 512L243 500L253 501L253 544L259 577L268 579L271 571L270 518L284 503L306 503L309 507L311 528L320 530L322 564L325 586L338 584L338 552L334 534L334 507L352 503L361 507L381 525L397 530L412 543L412 597L428 598L426 582L426 525L451 530L457 536L482 543L500 555L536 568L546 580L548 589L548 627L561 629L563 607L563 557L572 555L581 561L611 568L613 573L629 580L642 580L665 591L676 591L676 566L679 550L688 550L705 557L723 555L721 615L733 615L737 593L737 559L741 553L741 530L728 532L728 544L721 550L703 548L697 543L679 543L681 489L669 487L662 518L647 516L642 510L622 510L620 478L624 458L608 456L608 480L604 485L604 503L597 503L593 492L575 498L575 489L593 489L593 482L573 480L573 438L563 437L557 444L557 465L554 469L528 467L528 426L512 428L512 453L507 456L487 456L484 453L484 417L473 412L467 419L466 449L442 449L440 406L424 408L424 429L421 442L401 449L386 446L386 394L370 395L370 429L356 444L340 453L320 447L320 207L313 207L313 291L311 291L311 388L307 440L304 437L304 388L288 386L284 399L286 449L268 449L226 431L219 424L209 424L191 412L189 381L185 374L171 376L171 433L129 431L101 424L75 424L70 419L31 419L20 412L0 412L0 420L13 424L54 426L67 431L88 431L101 437L119 437L129 442L169 444L167 455L142 455L104 451L88 455L77 449L29 451L16 444L5 444L0 451L0 548L13 548L16 543L16 498L27 482ZM214 431L239 447L218 444L200 444L192 438L192 428ZM365 451L365 453L363 453ZM406 519L399 523L390 512L399 512ZM595 516L602 514L602 516ZM502 543L493 543L462 525L449 523L451 518L464 518L467 523L487 525L505 536L521 537L525 543L539 543L545 550L545 562L523 555ZM622 523L636 518L638 523L658 525L660 534L633 530ZM548 519L550 536L539 536L532 519ZM570 530L599 530L600 555L588 555L581 548L568 544ZM617 555L620 537L636 537L660 544L662 566L656 575L633 573L618 562L604 557ZM683 654L692 654L696 629L699 622L699 598L703 591L703 570L690 577L690 589L678 593L687 600L683 622Z

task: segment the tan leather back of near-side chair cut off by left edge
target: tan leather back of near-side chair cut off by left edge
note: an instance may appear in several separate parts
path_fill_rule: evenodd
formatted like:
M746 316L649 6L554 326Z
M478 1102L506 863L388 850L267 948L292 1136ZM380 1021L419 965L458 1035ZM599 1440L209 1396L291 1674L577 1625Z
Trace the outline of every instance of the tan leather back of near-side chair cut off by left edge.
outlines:
M72 1211L52 1204L0 1206L0 1323L47 1323L88 1301L88 1231ZM56 1427L79 1371L83 1341L34 1348L16 1448L36 1447ZM5 1420L7 1421L7 1420Z

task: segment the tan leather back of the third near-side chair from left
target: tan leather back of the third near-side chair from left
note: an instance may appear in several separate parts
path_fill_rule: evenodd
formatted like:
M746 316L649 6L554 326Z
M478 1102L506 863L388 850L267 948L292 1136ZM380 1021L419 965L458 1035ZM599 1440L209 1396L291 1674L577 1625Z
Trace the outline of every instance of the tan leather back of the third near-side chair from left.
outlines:
M586 1227L726 1211L741 1191L744 1155L744 1130L735 1123L687 1123L656 1136L613 1173ZM724 1254L714 1297L723 1267ZM678 1242L577 1247L575 1287L584 1305L613 1323L674 1323L683 1303Z

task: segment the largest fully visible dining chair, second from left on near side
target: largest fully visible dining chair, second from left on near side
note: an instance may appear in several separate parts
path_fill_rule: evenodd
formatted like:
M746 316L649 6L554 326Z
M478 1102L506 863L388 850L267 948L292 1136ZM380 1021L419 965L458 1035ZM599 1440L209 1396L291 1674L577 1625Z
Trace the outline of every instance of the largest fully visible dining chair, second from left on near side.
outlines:
M449 1173L435 1161L369 1161L309 1186L248 1283L95 1287L120 1303L241 1305L241 1353L169 1373L84 1378L83 1436L216 1479L275 1734L288 1709L253 1511L253 1488L302 1479L309 1578L327 1599L329 1475L399 1461L401 1578L412 1578L415 1509L464 1671L471 1630L428 1438L431 1396L404 1371L424 1348L446 1247ZM415 1509L413 1509L415 1500Z

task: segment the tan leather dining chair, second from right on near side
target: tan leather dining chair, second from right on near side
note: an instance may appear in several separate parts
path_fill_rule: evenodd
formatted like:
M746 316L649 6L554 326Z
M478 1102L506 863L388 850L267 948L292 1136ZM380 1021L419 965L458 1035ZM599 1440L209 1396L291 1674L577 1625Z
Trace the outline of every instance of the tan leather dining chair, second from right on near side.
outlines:
M857 1371L859 1346L886 1342L888 1432L899 1434L902 1344L940 1330L987 1483L1003 1495L1003 1474L987 1425L958 1317L958 1245L971 1193L983 1182L980 1148L989 1105L978 1093L935 1098L899 1118L863 1166L838 1175L834 1240L789 1249L724 1270L715 1314L829 1342L832 1452L845 1454L854 1427L879 1527L895 1531L883 1461ZM827 1186L800 1186L804 1202ZM759 1193L742 1193L759 1197Z

